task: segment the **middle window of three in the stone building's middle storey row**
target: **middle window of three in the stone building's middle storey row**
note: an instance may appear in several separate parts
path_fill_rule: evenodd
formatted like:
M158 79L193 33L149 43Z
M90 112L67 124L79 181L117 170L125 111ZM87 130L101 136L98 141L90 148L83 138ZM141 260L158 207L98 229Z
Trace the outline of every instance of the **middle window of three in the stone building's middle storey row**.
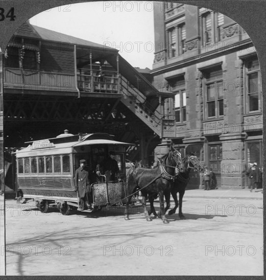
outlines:
M204 72L206 118L224 116L223 72L221 66Z

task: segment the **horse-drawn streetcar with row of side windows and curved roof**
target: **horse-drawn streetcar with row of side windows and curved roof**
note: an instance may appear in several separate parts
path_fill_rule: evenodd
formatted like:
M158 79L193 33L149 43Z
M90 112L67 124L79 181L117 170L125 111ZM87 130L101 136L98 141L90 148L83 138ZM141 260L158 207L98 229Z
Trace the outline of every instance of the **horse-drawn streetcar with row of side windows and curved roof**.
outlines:
M16 152L18 190L23 201L34 200L41 212L47 212L52 204L63 215L79 207L74 177L80 160L86 162L90 181L91 209L87 211L112 206L125 197L124 181L118 182L117 177L114 181L99 180L95 170L114 151L119 174L126 177L126 147L132 144L114 141L107 133L73 135L67 130L55 138L28 143Z

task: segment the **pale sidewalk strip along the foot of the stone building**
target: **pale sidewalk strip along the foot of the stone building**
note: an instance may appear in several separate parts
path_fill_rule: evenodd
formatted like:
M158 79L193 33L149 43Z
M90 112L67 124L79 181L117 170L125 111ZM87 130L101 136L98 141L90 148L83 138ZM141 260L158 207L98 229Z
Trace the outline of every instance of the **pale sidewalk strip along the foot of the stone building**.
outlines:
M185 191L184 198L223 198L223 199L263 199L262 189L250 192L249 188L245 189L189 189Z

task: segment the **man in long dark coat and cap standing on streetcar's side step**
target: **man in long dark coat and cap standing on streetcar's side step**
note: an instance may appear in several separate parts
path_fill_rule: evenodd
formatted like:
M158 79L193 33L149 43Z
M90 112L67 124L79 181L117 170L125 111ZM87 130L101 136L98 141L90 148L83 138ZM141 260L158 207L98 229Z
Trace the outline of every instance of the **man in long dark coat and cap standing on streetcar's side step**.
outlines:
M85 170L85 163L85 159L80 160L80 167L76 170L74 180L75 191L78 192L80 210L85 210L86 203L88 203L88 196L91 192L89 173Z

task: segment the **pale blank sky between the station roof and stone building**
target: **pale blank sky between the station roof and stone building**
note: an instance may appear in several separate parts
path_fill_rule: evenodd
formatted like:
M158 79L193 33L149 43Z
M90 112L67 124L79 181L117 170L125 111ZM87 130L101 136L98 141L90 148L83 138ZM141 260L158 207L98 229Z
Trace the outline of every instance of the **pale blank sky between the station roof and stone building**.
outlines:
M105 1L56 7L30 23L114 47L133 67L152 69L154 17L151 1Z

